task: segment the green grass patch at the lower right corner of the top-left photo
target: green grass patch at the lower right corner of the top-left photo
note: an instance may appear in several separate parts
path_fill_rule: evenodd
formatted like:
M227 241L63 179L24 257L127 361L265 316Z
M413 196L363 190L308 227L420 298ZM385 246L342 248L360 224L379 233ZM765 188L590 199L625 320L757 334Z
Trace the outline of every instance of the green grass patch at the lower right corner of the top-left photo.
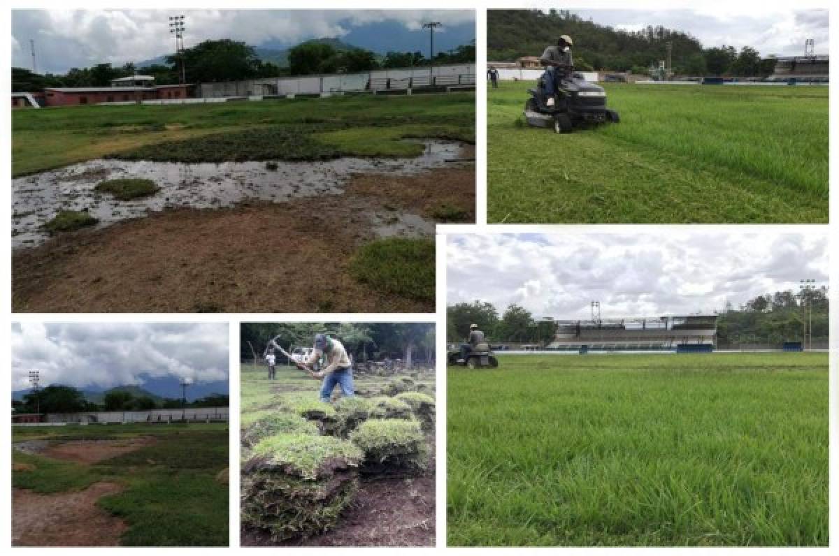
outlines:
M435 296L435 246L425 239L393 237L367 243L350 261L353 278L411 299Z

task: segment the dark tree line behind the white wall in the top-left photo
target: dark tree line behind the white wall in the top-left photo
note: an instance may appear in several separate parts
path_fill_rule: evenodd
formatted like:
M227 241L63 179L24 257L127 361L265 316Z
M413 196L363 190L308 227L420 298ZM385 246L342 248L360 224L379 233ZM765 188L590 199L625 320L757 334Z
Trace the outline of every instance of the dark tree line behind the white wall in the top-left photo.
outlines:
M439 52L433 60L421 52L388 52L378 56L370 50L337 48L317 40L306 41L289 49L289 66L260 60L253 46L231 39L206 40L183 53L187 83L242 81L288 75L353 73L387 68L427 66L431 64L474 63L475 43ZM113 79L128 77L139 71L152 75L158 85L180 82L181 55L169 55L165 64L137 68L132 63L119 67L96 64L89 68L72 68L64 75L36 74L25 68L12 68L12 91L33 92L45 87L107 87Z

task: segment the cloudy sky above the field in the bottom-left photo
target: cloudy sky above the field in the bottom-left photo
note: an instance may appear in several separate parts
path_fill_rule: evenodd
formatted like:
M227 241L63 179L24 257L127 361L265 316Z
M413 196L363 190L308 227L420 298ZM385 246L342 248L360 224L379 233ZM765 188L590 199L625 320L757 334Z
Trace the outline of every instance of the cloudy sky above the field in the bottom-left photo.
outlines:
M12 390L41 386L116 387L138 376L227 380L227 324L13 323Z

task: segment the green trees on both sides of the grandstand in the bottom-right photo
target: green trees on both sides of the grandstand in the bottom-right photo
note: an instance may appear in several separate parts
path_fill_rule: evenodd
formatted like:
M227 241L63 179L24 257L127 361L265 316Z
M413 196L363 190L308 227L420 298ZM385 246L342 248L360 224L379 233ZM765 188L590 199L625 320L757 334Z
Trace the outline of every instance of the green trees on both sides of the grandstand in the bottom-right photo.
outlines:
M791 290L758 295L738 308L732 304L717 315L717 343L722 346L743 343L781 344L803 337L805 320L810 326L812 309L813 340L826 340L829 334L830 301L827 288L812 288L795 294ZM519 305L509 305L503 314L491 303L476 300L446 308L446 341L460 342L476 324L492 342L521 342L546 346L553 340L553 320L536 320Z

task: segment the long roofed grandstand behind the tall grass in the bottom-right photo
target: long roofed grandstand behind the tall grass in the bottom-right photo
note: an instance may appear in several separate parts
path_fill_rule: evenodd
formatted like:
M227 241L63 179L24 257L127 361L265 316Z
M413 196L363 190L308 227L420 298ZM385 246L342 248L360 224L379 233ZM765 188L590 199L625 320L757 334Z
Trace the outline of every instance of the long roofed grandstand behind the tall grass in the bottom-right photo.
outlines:
M557 320L548 350L709 351L717 343L717 315Z

